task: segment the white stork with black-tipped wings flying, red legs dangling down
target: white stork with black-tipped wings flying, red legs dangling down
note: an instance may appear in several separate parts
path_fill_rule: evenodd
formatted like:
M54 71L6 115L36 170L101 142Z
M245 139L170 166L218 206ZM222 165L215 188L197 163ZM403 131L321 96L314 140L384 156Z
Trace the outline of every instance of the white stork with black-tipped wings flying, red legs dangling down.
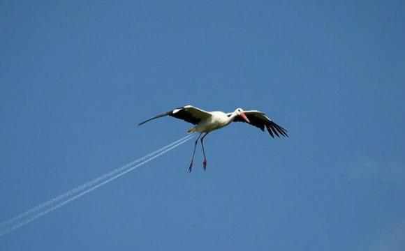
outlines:
M282 128L281 126L274 123L269 117L266 116L263 112L259 112L256 110L244 111L242 108L235 109L234 112L207 112L203 109L198 107L193 107L192 105L186 105L184 107L179 107L173 109L169 112L165 112L163 114L159 114L154 116L151 119L147 119L139 123L139 126L151 121L152 119L158 119L163 116L172 116L176 119L182 119L186 122L192 123L194 126L187 130L187 132L198 132L198 138L196 142L194 142L194 149L193 155L191 157L191 162L189 165L189 172L193 167L193 160L194 154L196 153L196 146L198 144L198 139L201 137L201 146L202 146L202 154L204 155L204 161L202 162L202 168L205 170L207 168L207 158L205 158L205 150L204 150L204 138L208 135L209 132L213 130L217 130L228 126L231 122L246 122L251 126L256 126L260 128L260 130L267 129L270 136L274 138L274 135L277 137L283 136L288 137L287 130ZM204 135L203 135L204 134Z

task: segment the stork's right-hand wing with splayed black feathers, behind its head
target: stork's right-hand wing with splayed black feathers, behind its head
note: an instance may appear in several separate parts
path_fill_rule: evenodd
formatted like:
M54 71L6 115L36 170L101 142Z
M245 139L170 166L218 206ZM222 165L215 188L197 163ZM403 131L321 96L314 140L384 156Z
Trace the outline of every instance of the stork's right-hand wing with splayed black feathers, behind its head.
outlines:
M227 115L230 116L230 114L232 113L228 113ZM265 128L267 128L267 131L269 132L270 136L274 137L274 135L276 135L277 137L280 137L281 135L283 137L288 137L287 130L277 125L277 123L274 123L263 112L251 110L251 111L244 111L244 114L249 119L250 125L260 128L260 130L263 130L263 132L265 131ZM233 121L246 123L246 121L241 116L236 116Z

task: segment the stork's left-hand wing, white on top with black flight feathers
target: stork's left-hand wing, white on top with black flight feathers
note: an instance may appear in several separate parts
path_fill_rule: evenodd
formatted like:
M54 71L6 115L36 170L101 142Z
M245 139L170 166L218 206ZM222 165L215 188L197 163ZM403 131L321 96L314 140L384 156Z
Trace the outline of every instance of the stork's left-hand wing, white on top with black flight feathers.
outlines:
M186 122L196 125L201 120L207 119L209 116L211 116L211 114L198 107L193 107L192 105L186 105L185 107L179 107L179 108L173 109L172 111L156 115L151 119L142 121L138 125L139 126L143 125L144 123L147 123L148 121L151 121L152 119L158 119L163 116L172 116L172 117L175 117L176 119L182 119Z

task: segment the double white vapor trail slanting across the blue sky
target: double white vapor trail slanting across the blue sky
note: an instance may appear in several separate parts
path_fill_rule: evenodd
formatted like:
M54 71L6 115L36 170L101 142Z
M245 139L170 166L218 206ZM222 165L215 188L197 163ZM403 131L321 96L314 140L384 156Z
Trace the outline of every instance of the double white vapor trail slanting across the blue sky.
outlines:
M50 213L51 211L54 211L55 209L64 206L65 204L68 204L69 202L75 199L78 199L79 197L82 197L83 195L86 195L88 192L91 192L96 188L100 188L102 185L110 183L110 181L115 180L119 176L131 172L133 169L140 167L141 165L144 165L145 163L153 160L154 158L158 158L160 155L172 149L175 149L177 146L184 144L185 142L188 142L193 137L194 137L193 135L187 135L186 137L183 137L182 139L179 139L176 142L173 142L172 144L163 146L161 149L156 150L153 153L149 153L148 155L139 158L138 160L135 160L133 162L130 162L127 165L119 167L109 172L108 174L104 174L103 176L94 178L93 180L88 181L87 183L84 183L78 186L77 188L68 190L68 192L65 192L62 195L54 197L53 199L50 199L44 202L43 204L31 208L29 211L21 213L20 215L17 215L14 218L11 218L10 220L2 222L0 224L0 236L8 234L10 231L13 231L24 225L27 225L29 222L36 220L41 216L46 215L47 213Z

